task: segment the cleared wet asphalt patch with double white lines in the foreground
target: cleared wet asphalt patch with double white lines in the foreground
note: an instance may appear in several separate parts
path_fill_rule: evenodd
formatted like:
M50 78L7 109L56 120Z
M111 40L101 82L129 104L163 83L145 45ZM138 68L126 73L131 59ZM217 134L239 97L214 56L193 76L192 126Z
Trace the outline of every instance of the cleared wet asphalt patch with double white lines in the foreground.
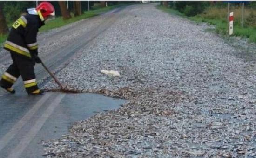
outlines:
M76 121L114 110L125 100L98 94L0 93L0 157L41 157L41 142L68 133Z

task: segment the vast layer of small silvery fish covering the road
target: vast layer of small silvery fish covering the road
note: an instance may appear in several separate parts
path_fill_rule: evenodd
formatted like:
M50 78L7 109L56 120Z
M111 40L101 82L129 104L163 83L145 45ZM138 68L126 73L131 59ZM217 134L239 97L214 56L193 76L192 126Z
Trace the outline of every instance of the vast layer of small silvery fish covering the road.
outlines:
M128 102L44 142L48 157L255 157L255 61L237 56L243 49L207 26L153 4L122 13L57 77ZM44 88L56 87L51 81Z

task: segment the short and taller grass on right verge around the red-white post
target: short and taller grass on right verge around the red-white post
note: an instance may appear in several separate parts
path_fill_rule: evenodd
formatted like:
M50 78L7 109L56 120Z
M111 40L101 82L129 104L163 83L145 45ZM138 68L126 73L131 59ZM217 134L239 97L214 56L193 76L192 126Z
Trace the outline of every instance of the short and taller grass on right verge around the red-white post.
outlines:
M165 8L163 6L157 6L158 9L170 13L173 15L182 16L183 18L190 19L192 21L195 21L197 23L200 22L206 22L210 25L215 25L215 32L221 35L227 35L227 10L224 8L208 8L206 9L202 14L196 15L194 17L187 17L183 13L178 12L177 10L171 9L171 8ZM241 26L241 17L240 15L240 8L235 8L232 11L235 13L235 23L234 23L234 35L233 36L239 36L243 38L249 38L250 42L256 43L256 27L254 27L254 24L250 26ZM240 12L239 12L240 11ZM249 18L250 15L256 15L256 11L254 10L247 10L245 12L245 19ZM239 20L238 20L239 19ZM236 21L237 20L237 21Z

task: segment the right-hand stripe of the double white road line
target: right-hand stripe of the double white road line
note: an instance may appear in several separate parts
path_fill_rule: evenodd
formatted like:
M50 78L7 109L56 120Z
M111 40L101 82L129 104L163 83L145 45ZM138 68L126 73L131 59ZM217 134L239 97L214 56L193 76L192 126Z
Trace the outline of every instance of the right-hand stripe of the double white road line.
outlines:
M45 121L54 112L54 109L60 104L61 100L66 94L58 95L54 101L49 105L41 117L35 122L34 126L28 131L26 136L20 140L20 143L10 152L8 158L19 158L24 149L29 145L30 141L36 136L38 131L44 125Z

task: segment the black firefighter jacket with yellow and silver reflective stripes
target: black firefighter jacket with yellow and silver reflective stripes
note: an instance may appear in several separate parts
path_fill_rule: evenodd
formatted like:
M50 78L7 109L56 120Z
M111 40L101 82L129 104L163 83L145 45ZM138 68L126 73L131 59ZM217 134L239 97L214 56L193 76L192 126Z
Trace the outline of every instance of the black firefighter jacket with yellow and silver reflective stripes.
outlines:
M42 25L44 25L44 22L39 15L27 14L21 16L13 24L4 48L28 58L37 55L36 36Z

